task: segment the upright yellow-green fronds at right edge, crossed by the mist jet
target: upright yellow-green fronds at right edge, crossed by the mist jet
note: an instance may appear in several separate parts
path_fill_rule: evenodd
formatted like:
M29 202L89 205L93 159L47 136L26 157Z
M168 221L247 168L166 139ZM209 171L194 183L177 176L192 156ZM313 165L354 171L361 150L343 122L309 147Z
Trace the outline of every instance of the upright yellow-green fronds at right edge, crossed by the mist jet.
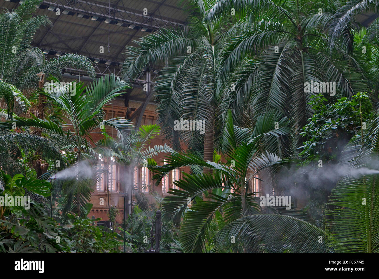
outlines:
M326 229L337 252L379 252L379 203L377 199L377 162L379 112L366 129L354 136L341 159L341 167L350 168L333 189L326 212Z

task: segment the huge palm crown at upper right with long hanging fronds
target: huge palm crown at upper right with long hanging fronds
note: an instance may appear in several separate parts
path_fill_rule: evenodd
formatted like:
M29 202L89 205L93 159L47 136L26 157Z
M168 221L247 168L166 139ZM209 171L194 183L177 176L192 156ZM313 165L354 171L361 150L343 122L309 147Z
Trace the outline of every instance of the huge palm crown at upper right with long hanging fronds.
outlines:
M221 79L233 73L240 77L236 90L251 100L255 117L270 109L289 117L292 150L301 144L301 128L313 115L309 102L316 93L305 90L305 83L335 82L335 97L324 92L334 101L337 96L351 97L368 89L364 65L352 53L355 46L346 43L351 30L346 26L333 29L338 8L337 2L329 1L221 0L207 13L207 19L215 22L225 18L236 21L231 28L235 37L222 60ZM342 38L330 44L328 30Z

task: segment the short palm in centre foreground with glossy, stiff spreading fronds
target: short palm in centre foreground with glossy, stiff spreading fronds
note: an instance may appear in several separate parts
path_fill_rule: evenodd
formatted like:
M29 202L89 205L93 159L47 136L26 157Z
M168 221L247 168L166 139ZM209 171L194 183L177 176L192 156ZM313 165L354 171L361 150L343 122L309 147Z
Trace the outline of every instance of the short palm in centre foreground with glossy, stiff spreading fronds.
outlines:
M280 123L275 129L274 122ZM215 214L222 213L226 223L242 216L260 213L257 197L249 189L250 181L258 172L276 172L276 166L285 162L272 151L277 150L273 139L289 132L289 121L280 114L269 112L258 118L254 129L233 126L231 111L228 112L222 146L227 163L205 161L193 154L174 153L167 156L168 164L152 167L158 181L169 171L183 166L208 168L213 173L187 174L175 182L179 189L171 189L171 196L163 201L163 217L179 224L180 241L185 252L201 252L206 245L206 235ZM268 150L262 150L267 146ZM219 160L219 158L218 158ZM210 192L210 199L201 199L203 192ZM190 209L188 204L194 203ZM210 240L208 240L210 241Z

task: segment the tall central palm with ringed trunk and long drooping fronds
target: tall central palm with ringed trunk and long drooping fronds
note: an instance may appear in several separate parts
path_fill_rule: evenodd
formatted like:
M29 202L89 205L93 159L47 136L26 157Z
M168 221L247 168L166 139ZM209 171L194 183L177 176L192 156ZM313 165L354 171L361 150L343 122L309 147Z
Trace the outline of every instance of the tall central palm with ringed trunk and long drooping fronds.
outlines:
M130 80L146 65L168 62L153 88L159 125L175 150L181 149L182 139L192 150L204 153L205 161L213 160L215 141L224 126L222 116L238 102L235 92L230 93L230 84L220 80L221 58L228 37L222 22L205 18L211 4L209 0L193 2L189 32L162 30L136 41L136 47L127 47L128 58L122 69L122 77ZM225 87L228 89L224 92ZM195 129L177 131L174 121L180 118L204 121L204 134ZM208 172L205 168L204 173Z

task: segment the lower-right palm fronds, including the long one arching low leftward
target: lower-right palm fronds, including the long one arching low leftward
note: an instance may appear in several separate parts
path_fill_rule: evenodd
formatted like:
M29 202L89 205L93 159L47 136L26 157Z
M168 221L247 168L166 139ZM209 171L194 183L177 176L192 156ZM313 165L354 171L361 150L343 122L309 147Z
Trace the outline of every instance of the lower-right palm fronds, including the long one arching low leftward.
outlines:
M358 133L343 152L340 168L350 172L332 191L324 230L293 216L255 214L227 224L216 245L228 243L237 251L227 241L234 236L259 252L379 252L379 111L368 123L363 137Z

